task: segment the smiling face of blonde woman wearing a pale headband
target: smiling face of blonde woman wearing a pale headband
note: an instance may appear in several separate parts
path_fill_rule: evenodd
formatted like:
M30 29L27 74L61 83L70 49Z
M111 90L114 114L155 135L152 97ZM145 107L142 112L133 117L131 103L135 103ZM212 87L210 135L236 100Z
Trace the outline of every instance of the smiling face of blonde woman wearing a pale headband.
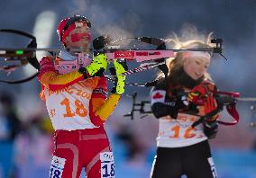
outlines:
M183 68L188 76L194 80L204 76L209 65L211 58L206 57L189 57L184 59Z

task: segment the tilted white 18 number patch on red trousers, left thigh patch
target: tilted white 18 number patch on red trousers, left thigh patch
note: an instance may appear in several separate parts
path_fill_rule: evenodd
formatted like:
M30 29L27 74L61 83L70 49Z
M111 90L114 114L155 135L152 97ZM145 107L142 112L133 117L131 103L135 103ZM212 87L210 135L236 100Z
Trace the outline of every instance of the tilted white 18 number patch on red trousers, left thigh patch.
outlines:
M66 159L53 156L50 165L50 178L61 178Z

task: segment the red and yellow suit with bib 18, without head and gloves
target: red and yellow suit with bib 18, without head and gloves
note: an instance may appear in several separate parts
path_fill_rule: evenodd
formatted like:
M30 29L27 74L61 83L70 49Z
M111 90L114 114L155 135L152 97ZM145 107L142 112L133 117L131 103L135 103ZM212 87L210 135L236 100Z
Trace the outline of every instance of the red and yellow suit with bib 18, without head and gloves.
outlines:
M103 124L121 95L107 98L105 77L84 79L78 71L59 75L52 58L41 59L41 99L55 131L50 177L114 177L114 158Z

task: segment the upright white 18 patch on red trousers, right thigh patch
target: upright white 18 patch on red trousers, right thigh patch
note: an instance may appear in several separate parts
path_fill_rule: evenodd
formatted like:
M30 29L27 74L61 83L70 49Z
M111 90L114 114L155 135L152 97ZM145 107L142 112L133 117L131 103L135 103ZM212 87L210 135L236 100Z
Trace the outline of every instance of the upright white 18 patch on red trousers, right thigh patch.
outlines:
M100 153L101 178L114 178L113 152Z

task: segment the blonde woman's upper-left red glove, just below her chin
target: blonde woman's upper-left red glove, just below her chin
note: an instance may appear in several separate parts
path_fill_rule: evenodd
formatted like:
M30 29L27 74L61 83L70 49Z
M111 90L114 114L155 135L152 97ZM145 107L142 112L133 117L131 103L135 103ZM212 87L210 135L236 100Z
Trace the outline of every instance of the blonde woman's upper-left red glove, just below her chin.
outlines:
M200 99L205 96L206 88L203 85L197 85L187 94L187 100L189 102L193 102L196 105L202 105L203 102Z

